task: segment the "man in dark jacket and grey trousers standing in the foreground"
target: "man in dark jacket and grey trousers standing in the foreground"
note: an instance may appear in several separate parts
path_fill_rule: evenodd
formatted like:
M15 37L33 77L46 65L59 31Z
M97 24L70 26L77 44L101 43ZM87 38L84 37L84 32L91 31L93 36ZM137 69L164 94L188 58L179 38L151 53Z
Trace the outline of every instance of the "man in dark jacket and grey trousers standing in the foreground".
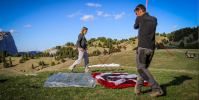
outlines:
M154 55L157 18L150 16L149 13L146 12L146 8L143 4L139 4L134 12L137 17L134 29L139 29L138 50L136 51L136 66L139 75L137 77L134 94L143 94L141 89L144 80L146 80L152 88L152 92L149 93L149 96L157 97L162 95L163 91L148 70Z

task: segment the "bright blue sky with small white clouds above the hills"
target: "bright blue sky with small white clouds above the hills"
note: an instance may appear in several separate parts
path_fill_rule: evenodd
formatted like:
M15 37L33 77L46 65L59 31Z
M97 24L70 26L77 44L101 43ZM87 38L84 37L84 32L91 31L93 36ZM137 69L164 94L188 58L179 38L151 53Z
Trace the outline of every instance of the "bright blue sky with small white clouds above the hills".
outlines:
M87 40L137 36L134 9L146 0L0 0L0 4L0 31L10 31L21 52L76 43L84 26ZM198 0L148 0L147 12L158 19L158 33L198 25Z

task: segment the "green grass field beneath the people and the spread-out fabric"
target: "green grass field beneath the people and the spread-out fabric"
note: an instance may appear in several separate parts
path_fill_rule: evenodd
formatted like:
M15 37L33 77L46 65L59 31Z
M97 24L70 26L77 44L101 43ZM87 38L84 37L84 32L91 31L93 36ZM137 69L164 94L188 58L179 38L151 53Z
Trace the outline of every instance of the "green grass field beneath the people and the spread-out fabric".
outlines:
M44 82L52 74L59 72L68 73L67 68L74 62L74 60L66 59L65 63L57 64L55 66L48 66L42 70L36 71L31 69L31 63L35 65L38 61L44 60L46 63L53 61L51 57L43 57L39 59L31 59L24 63L27 66L17 65L17 60L20 58L12 57L12 68L0 69L0 99L26 99L26 100L72 100L72 99L89 99L89 100L198 100L198 72L199 63L198 58L187 58L185 51L189 54L197 53L196 49L169 49L175 57L171 56L165 50L156 50L149 71L152 73L154 79L158 82L164 91L163 96L149 97L148 93L152 90L150 87L143 87L143 95L135 96L133 94L134 87L123 89L107 89L101 84L97 83L95 88L77 88L77 87L43 87ZM100 59L104 61L109 55L103 56ZM7 58L8 59L8 58ZM90 57L89 65L100 64L96 57ZM46 60L46 61L45 61ZM30 66L29 66L30 63ZM109 67L112 72L126 72L131 74L138 74L135 63L135 51L124 51L113 54L107 61L109 63L119 63L121 67ZM2 64L0 65L2 66ZM29 73L37 73L38 76L25 76L26 72L18 72L26 68ZM15 69L15 71L13 71ZM11 71L12 70L12 71ZM90 68L91 71L108 72L105 67ZM75 73L84 73L84 62L76 66Z

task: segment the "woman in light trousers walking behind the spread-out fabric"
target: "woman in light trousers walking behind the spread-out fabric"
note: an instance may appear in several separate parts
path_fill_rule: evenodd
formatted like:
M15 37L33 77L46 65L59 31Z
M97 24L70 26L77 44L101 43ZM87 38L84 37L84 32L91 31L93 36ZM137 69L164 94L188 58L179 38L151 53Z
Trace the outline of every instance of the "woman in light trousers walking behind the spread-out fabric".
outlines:
M75 68L75 66L79 63L82 62L82 59L84 58L84 62L85 62L85 73L91 73L91 71L89 70L88 67L88 63L89 63L89 58L88 58L88 54L84 51L86 51L87 48L87 41L85 38L85 34L87 33L88 28L83 27L81 30L81 33L78 36L78 40L77 40L77 46L78 46L78 59L68 68L68 70L72 73L73 69Z

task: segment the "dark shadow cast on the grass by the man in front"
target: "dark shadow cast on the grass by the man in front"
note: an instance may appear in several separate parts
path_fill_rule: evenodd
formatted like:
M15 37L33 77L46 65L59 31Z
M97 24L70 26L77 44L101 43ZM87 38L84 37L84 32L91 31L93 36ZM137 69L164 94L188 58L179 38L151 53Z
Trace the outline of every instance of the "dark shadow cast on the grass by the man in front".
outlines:
M174 77L174 78L175 79L170 81L169 83L160 85L160 87L162 88L162 90L164 92L164 94L162 96L166 96L167 95L167 89L166 89L167 87L174 86L174 85L180 85L184 81L192 79L191 77L186 76L186 75L182 75L182 76ZM148 93L148 92L151 92L151 91L152 91L152 89L143 91L143 93Z

